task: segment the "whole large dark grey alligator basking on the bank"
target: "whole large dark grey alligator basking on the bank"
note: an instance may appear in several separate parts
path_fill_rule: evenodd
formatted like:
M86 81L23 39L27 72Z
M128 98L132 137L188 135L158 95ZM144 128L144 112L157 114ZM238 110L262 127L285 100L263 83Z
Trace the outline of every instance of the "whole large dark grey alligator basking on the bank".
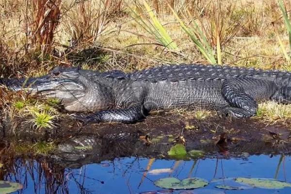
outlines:
M162 65L132 73L56 67L49 74L2 81L61 100L73 117L87 123L143 120L161 109L209 109L233 117L256 114L258 102L291 100L291 72L227 65Z

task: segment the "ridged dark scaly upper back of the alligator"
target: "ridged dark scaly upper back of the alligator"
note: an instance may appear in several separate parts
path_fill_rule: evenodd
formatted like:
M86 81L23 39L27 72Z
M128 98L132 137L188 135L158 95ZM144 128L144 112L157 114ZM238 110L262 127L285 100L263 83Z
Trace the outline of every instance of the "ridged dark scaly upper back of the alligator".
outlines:
M237 77L268 79L275 81L277 84L287 84L291 81L291 73L288 71L200 64L163 65L133 72L129 74L129 77L135 81L149 82L162 80L175 82L193 79L215 79L222 81Z

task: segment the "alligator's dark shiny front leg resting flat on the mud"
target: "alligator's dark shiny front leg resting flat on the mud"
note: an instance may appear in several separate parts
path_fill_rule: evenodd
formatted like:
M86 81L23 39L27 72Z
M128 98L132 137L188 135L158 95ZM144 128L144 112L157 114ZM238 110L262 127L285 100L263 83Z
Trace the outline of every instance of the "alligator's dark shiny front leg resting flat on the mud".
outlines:
M143 106L133 106L128 109L104 110L92 114L74 114L71 117L88 123L99 123L101 121L117 121L122 123L133 123L146 117L147 111Z

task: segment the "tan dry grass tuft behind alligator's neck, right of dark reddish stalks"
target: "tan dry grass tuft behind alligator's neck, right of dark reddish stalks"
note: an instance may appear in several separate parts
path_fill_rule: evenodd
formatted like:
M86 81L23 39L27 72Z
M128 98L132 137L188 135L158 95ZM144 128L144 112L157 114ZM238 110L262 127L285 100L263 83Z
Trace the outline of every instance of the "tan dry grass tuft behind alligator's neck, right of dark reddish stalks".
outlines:
M98 45L98 39L114 16L121 12L121 0L81 0L64 15L64 29L71 47Z

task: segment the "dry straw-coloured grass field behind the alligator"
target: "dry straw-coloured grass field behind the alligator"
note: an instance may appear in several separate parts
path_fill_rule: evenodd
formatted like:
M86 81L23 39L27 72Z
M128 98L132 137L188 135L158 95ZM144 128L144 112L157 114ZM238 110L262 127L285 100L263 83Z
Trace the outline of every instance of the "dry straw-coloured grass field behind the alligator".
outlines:
M0 0L0 76L39 75L56 65L76 65L70 55L82 49L86 49L84 53L92 53L88 52L91 49L100 51L78 62L86 68L128 71L162 63L207 63L179 27L168 4L176 12L188 9L203 24L211 24L215 16L227 23L224 26L240 23L235 32L225 28L220 34L221 39L227 40L222 50L223 63L291 69L275 35L276 31L290 53L288 34L276 0L147 2L177 44L179 53L167 52L152 44L152 34L129 16L129 6L135 9L133 0ZM220 2L219 15L215 15L217 9L210 6L213 2ZM285 0L285 6L290 15L291 2ZM230 16L230 7L231 17L226 18ZM228 40L229 34L231 39ZM211 31L206 35L216 47L215 35ZM128 47L130 45L134 46ZM283 118L289 118L286 115L284 113Z

